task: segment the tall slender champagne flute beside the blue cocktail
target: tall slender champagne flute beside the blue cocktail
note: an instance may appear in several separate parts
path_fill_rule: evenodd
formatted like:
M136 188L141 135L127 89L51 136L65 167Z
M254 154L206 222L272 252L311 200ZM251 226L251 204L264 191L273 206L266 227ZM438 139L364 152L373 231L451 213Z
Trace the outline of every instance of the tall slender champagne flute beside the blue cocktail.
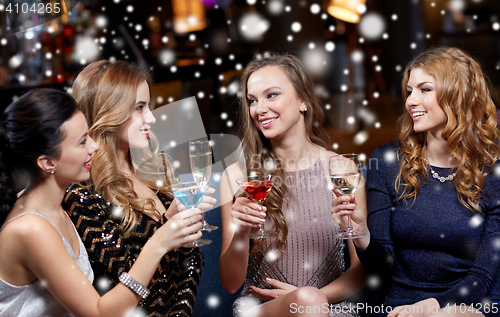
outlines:
M210 141L189 142L189 161L194 181L198 184L208 182L212 172L212 149ZM216 230L217 226L208 224L205 212L202 214L202 231Z

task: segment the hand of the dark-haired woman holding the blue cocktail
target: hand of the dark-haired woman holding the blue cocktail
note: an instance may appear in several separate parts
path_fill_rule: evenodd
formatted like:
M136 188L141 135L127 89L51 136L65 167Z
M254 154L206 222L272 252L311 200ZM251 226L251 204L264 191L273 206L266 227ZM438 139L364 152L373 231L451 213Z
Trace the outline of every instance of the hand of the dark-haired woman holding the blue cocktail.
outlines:
M162 225L151 237L162 253L167 253L201 238L201 210L180 211Z

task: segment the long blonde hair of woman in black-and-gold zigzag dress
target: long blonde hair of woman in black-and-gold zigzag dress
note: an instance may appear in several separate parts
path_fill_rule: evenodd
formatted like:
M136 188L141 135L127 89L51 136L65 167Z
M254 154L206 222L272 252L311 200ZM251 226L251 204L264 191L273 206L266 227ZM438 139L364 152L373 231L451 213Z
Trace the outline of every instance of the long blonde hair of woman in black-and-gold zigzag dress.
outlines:
M85 115L90 126L89 135L99 144L100 150L92 157L91 179L97 193L108 202L123 208L122 229L128 233L137 224L138 210L149 216L159 217L153 199L139 198L132 181L118 167L117 145L120 132L135 109L137 87L146 81L154 107L150 75L137 65L125 62L101 60L85 67L73 84L72 96ZM128 163L133 171L130 150ZM154 182L144 183L155 191L161 191L172 199L165 188Z

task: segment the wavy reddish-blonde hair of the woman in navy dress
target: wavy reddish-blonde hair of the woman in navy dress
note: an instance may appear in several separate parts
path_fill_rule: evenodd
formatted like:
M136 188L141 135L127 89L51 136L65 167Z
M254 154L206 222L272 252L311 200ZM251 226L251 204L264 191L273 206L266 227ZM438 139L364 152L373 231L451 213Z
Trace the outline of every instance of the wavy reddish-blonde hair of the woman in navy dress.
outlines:
M484 178L492 172L499 154L499 130L489 82L479 64L464 51L431 48L406 66L402 81L405 100L410 73L417 68L436 80L436 99L447 116L441 137L459 162L455 178L458 199L470 210L481 212ZM424 185L421 182L429 178L426 133L413 130L413 119L407 111L398 120L398 131L402 164L395 186L400 198L407 201L417 196Z

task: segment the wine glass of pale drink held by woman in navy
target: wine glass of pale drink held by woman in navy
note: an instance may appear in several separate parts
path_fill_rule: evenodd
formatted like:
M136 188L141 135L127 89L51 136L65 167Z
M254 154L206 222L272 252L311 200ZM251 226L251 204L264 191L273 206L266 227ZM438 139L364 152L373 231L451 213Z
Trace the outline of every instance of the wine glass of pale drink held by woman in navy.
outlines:
M333 190L341 195L354 195L363 178L361 161L357 154L340 154L330 157L330 179ZM347 229L337 234L341 239L356 239L366 233L354 230L351 225L351 216L347 216Z

